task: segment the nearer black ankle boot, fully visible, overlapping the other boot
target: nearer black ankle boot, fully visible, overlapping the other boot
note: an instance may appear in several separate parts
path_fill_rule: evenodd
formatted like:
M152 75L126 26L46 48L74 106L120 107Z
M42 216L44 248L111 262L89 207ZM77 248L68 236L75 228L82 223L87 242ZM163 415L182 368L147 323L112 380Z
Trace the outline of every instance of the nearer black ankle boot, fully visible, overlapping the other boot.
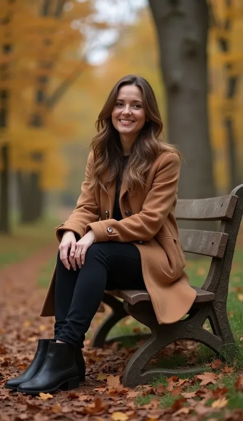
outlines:
M75 348L68 343L50 341L42 367L31 380L19 385L17 391L34 395L78 388L75 352Z

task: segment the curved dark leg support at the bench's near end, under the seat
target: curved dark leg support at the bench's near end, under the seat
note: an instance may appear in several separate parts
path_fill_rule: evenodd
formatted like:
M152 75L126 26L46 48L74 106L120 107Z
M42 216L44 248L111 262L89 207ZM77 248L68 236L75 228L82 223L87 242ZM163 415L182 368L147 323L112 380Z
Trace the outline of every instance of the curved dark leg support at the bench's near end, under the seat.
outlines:
M136 320L144 323L151 329L150 338L141 346L129 360L124 371L123 384L127 387L151 384L161 375L190 375L205 371L205 367L193 367L185 369L145 369L147 363L170 343L179 339L188 339L201 342L217 354L221 354L225 348L224 339L204 328L204 324L210 312L210 303L200 304L193 309L191 316L173 324L158 324L151 302L130 305L124 302L124 308Z

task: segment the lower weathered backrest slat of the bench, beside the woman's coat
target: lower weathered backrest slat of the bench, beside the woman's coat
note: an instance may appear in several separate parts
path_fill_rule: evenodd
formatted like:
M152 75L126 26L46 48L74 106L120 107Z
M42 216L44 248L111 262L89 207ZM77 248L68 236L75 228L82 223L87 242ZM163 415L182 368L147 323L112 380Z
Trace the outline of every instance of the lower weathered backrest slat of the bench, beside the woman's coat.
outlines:
M179 239L184 252L221 258L225 254L228 234L180 228Z

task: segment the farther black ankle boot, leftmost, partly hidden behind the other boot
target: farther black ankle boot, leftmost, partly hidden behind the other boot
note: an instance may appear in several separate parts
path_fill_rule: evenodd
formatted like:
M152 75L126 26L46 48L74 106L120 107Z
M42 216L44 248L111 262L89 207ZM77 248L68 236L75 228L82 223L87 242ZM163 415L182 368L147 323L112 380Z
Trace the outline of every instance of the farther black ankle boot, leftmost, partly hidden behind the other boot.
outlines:
M24 371L24 373L20 374L19 376L15 378L11 378L7 380L4 384L5 388L16 390L17 387L21 385L21 383L24 383L25 381L29 381L32 377L35 376L36 373L38 373L40 367L42 367L43 365L43 362L47 353L49 341L50 339L38 340L37 350L30 366Z

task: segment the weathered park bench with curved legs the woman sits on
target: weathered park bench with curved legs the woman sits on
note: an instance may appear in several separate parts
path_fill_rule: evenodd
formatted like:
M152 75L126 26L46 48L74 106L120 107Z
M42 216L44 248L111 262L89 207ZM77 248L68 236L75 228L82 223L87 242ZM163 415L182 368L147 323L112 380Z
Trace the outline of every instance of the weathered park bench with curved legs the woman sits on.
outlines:
M242 213L243 184L237 186L228 196L178 200L177 220L221 221L218 232L179 229L184 252L212 257L204 284L201 288L194 287L197 296L187 318L173 324L158 324L146 291L116 290L105 293L103 301L111 307L112 313L96 331L93 347L103 347L111 328L128 315L151 330L151 333L136 335L139 339L146 337L147 340L128 362L123 375L124 386L149 384L160 375L189 375L202 371L203 369L198 367L145 370L145 366L157 352L178 339L201 342L221 358L234 358L236 345L227 315L227 295ZM193 279L190 279L190 282L193 284ZM204 329L206 319L210 321L212 332ZM120 338L113 340L119 341Z

